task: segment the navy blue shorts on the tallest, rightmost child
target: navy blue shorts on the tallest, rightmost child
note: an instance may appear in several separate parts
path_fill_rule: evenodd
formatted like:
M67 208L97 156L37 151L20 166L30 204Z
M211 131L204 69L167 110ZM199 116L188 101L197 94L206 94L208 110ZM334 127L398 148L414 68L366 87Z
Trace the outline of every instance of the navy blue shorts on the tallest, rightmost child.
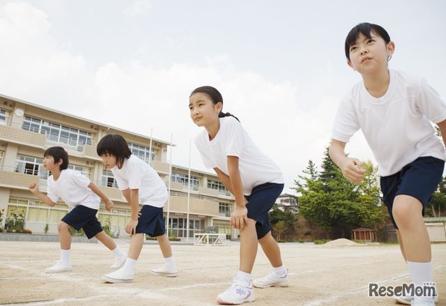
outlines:
M383 201L387 206L387 211L395 229L398 229L392 213L395 197L399 194L405 194L418 199L423 204L424 215L424 209L429 205L432 194L441 181L444 167L444 160L426 156L410 162L396 174L381 176Z

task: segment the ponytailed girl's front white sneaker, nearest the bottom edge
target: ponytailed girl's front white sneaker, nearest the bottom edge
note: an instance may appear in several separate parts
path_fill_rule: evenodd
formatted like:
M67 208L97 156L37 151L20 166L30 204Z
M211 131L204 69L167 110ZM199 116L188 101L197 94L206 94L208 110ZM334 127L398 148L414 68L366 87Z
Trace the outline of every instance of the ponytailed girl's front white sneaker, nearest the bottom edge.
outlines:
M254 302L254 291L252 291L252 282L233 279L228 289L217 296L217 303L223 305L239 305L245 302Z

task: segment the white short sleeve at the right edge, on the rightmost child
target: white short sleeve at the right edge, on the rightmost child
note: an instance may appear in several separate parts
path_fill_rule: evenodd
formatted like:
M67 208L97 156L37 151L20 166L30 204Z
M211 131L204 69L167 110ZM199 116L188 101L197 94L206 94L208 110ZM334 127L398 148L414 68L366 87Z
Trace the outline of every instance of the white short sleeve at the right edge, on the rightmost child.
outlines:
M446 104L438 92L425 79L421 80L420 91L417 94L417 107L433 123L446 120Z

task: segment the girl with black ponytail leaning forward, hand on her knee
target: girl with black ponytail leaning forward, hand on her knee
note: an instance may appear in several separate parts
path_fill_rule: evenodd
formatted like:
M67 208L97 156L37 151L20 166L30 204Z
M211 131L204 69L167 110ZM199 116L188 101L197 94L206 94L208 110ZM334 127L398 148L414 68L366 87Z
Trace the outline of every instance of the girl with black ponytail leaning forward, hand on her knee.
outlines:
M240 268L220 304L252 302L252 286L288 286L279 246L271 236L268 212L284 189L279 167L256 147L238 118L222 112L223 98L217 89L202 86L189 98L190 116L205 128L195 139L203 163L217 172L220 181L236 198L231 225L240 229ZM251 281L252 267L260 243L272 265L271 272Z

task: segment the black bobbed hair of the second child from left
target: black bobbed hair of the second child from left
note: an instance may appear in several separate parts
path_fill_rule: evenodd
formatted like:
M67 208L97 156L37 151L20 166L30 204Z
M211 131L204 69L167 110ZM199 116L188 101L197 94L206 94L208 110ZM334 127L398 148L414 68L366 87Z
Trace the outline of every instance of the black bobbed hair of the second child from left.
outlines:
M130 158L132 151L128 147L124 137L118 134L110 134L102 137L96 146L96 152L99 156L109 154L116 158L116 166L119 169L123 167L125 158Z

